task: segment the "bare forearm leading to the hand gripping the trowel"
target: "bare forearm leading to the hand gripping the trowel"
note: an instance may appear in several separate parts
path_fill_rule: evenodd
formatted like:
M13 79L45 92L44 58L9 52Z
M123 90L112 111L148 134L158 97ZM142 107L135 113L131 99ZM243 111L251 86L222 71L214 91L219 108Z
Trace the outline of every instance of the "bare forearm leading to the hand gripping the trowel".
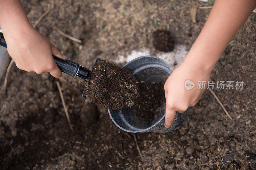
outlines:
M31 26L20 0L0 0L0 27L7 36Z

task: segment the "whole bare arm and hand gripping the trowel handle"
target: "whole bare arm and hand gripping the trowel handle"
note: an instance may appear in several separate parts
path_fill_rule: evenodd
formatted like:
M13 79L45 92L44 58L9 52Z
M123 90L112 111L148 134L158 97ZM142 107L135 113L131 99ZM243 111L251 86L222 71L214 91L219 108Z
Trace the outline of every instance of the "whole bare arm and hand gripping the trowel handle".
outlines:
M38 74L51 73L59 78L62 72L52 55L67 59L60 51L36 31L28 22L20 0L0 0L0 27L7 44L7 50L16 66Z

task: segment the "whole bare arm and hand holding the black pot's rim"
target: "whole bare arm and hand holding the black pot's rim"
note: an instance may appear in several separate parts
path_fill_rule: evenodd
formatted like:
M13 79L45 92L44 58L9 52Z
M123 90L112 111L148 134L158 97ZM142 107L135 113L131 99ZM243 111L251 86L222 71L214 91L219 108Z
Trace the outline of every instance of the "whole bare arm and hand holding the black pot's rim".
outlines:
M185 81L207 81L220 55L250 16L256 0L216 0L212 11L186 58L164 85L166 111L164 126L169 128L176 111L183 113L195 106L205 90L185 89ZM207 85L206 85L207 87Z

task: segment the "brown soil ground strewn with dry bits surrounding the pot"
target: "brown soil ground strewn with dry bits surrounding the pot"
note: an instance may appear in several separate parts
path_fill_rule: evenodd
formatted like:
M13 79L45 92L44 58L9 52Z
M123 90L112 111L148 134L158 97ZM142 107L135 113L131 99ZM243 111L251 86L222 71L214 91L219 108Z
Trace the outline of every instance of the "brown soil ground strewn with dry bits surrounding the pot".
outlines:
M26 0L32 24L47 3L51 10L37 30L83 66L134 49L150 48L154 55L152 33L168 24L175 42L189 49L211 10L198 9L193 24L188 1ZM211 75L214 81L244 81L242 90L213 90L232 120L207 90L179 129L137 134L144 161L132 135L116 127L106 108L82 98L84 81L28 73L13 64L7 94L0 98L0 169L256 169L255 20L253 13ZM61 36L57 28L83 43ZM55 81L62 86L74 133Z

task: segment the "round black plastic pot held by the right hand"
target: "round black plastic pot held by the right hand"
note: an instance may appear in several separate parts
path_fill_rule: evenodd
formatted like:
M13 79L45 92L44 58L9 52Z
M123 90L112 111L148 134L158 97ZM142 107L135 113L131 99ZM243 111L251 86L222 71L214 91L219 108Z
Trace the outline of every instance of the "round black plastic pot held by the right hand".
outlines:
M163 85L172 73L172 69L164 60L151 55L135 58L126 63L123 67L132 71L138 81L156 82ZM163 103L162 107L165 111L165 103ZM163 113L162 117L154 119L150 124L147 124L141 120L138 115L132 113L130 108L112 111L108 109L108 113L116 126L124 131L133 133L150 131L167 133L179 128L188 116L188 110L184 113L177 112L172 126L165 128L165 113Z

